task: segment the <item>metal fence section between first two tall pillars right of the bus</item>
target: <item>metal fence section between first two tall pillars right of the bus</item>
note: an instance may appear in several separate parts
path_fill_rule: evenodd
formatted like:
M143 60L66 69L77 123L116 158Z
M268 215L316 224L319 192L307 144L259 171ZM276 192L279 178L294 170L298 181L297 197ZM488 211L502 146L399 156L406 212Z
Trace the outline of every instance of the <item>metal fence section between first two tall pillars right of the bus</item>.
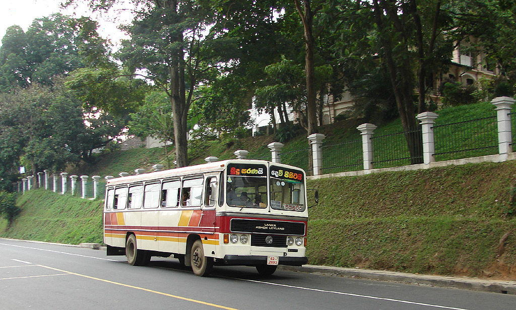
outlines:
M322 145L323 173L360 170L362 164L362 140Z

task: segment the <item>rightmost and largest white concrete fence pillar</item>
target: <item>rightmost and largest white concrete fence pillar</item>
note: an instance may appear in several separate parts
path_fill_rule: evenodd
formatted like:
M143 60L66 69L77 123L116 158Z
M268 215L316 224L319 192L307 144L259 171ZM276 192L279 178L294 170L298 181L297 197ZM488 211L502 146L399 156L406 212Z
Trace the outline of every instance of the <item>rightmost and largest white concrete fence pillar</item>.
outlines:
M498 153L507 154L512 152L512 130L511 130L511 106L514 99L511 97L496 97L491 100L496 107L496 119L498 123Z

